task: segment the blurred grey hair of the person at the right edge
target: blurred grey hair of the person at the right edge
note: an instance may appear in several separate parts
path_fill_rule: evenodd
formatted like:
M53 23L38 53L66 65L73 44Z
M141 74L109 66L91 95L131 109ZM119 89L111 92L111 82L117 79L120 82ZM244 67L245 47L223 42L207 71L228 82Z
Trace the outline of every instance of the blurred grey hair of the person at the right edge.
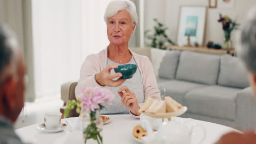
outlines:
M247 69L256 74L256 8L249 11L238 34L238 41L238 56L245 62Z

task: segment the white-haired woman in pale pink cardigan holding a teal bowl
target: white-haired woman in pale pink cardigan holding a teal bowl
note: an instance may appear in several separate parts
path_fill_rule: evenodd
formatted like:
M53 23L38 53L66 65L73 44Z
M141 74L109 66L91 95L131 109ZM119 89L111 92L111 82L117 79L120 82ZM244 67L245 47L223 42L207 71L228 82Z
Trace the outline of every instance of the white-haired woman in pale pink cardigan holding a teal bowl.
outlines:
M152 63L148 57L137 55L129 49L131 34L138 17L131 1L113 1L108 4L104 20L107 23L109 45L96 55L86 57L76 97L84 87L106 87L115 94L112 105L105 105L101 114L131 113L138 117L138 110L148 97L160 99ZM120 79L114 68L121 64L136 64L138 69L131 79Z

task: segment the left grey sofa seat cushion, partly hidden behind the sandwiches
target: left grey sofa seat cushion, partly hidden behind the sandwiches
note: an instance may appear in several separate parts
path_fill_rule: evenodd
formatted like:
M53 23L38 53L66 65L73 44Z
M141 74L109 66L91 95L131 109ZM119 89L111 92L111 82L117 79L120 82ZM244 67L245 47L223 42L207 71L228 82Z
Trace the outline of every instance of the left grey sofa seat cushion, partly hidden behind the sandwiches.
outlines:
M178 103L184 105L184 97L189 91L196 88L205 87L206 85L181 80L168 80L158 82L158 86L159 88L165 87L166 96L170 96L174 100L178 101Z

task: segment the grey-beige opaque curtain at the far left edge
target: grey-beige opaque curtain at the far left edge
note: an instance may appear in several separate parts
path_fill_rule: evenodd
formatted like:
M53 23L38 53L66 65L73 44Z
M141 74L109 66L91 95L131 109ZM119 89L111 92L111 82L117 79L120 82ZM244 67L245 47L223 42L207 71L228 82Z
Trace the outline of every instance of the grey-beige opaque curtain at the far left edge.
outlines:
M31 0L0 0L0 22L8 25L16 34L24 51L26 63L26 101L35 99L32 32L31 32Z

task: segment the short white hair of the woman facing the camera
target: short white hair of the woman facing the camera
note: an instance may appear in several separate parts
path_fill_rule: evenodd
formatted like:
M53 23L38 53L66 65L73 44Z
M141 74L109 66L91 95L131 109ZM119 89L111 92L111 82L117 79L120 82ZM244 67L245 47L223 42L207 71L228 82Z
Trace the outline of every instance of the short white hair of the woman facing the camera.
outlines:
M107 22L108 17L117 14L119 10L126 10L131 15L132 23L135 22L137 24L138 16L136 12L136 6L132 1L129 0L110 2L106 8L104 20Z

